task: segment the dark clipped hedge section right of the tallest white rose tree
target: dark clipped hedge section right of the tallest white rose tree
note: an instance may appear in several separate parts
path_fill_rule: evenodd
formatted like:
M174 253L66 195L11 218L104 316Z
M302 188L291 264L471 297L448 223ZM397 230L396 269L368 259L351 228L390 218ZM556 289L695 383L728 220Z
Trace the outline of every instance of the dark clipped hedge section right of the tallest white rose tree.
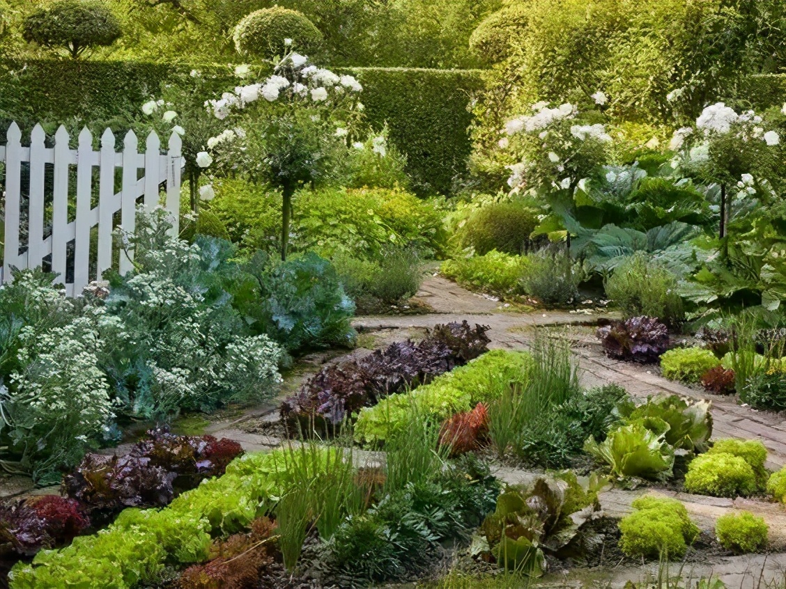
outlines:
M349 68L363 85L366 116L387 123L392 143L405 152L407 173L420 194L450 193L472 151L471 93L483 87L480 70Z

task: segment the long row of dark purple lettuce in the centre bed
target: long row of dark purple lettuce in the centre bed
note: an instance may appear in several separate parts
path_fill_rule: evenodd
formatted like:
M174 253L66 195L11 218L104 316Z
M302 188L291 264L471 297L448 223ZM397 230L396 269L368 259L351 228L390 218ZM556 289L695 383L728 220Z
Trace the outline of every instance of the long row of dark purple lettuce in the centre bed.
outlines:
M395 342L359 360L330 364L281 404L281 417L290 426L338 426L361 408L424 384L486 352L488 329L470 327L466 321L440 324L421 342Z

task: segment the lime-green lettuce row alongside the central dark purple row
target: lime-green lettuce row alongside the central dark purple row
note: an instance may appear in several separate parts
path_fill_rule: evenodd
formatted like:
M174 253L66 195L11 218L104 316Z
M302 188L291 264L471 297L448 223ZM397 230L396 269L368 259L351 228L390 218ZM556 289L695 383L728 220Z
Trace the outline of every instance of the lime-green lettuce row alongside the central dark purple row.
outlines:
M385 441L392 432L406 426L412 408L429 423L441 423L456 413L466 412L480 402L489 402L501 394L495 382L505 386L527 382L532 359L527 353L494 350L440 375L430 384L410 393L386 397L374 407L362 408L354 426L354 437L365 443Z

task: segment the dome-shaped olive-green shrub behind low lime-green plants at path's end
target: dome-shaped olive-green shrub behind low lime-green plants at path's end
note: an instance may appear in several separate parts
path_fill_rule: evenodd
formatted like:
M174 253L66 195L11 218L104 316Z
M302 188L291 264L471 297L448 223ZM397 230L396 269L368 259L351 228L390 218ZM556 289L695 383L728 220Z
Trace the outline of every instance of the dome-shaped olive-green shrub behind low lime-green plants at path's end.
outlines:
M469 215L454 236L458 248L472 248L476 255L492 250L523 254L538 225L539 210L523 199L489 203Z

